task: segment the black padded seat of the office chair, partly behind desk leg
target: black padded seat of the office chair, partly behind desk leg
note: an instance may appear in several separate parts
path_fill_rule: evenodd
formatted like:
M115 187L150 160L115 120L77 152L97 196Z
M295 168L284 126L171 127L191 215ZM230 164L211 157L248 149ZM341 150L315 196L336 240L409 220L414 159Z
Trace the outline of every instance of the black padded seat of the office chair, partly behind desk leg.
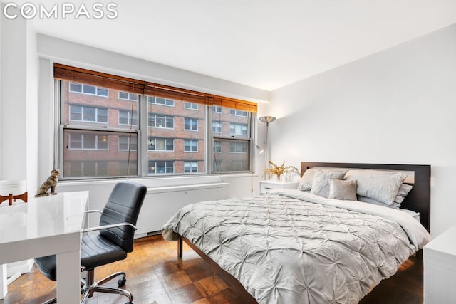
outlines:
M127 258L127 252L100 234L84 234L81 241L81 266L93 269ZM35 258L36 266L41 273L52 281L56 281L56 256Z

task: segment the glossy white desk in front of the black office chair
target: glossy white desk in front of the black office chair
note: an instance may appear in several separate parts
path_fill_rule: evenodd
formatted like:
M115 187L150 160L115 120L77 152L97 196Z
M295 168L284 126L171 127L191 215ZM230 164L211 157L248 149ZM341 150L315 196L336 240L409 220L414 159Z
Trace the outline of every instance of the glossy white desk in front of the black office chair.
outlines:
M58 303L79 303L81 229L88 192L30 196L26 204L0 205L0 266L56 254ZM6 272L2 276L6 281Z

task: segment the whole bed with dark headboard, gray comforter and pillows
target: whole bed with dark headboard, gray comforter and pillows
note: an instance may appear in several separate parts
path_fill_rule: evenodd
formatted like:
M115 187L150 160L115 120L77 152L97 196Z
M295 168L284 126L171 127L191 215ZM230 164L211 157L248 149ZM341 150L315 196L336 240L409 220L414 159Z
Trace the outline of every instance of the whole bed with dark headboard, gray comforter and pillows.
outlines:
M302 162L301 174L301 189L185 206L162 235L178 256L189 244L245 303L358 303L430 241L430 166ZM400 209L372 204L395 204L391 180L411 188ZM338 192L354 184L355 199ZM358 189L371 201L356 201Z

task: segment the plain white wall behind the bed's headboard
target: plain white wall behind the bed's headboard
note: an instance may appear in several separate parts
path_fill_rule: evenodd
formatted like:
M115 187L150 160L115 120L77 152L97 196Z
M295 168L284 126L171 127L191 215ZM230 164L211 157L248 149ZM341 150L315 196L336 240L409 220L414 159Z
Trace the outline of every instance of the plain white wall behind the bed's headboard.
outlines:
M271 159L430 164L437 236L456 224L455 96L453 25L272 92Z

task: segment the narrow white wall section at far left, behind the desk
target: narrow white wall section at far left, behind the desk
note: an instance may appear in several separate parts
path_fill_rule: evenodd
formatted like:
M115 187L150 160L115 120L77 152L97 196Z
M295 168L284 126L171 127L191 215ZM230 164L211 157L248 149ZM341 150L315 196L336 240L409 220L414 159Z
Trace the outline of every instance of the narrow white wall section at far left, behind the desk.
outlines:
M25 19L1 18L0 179L26 179L36 192L38 172L38 55Z

